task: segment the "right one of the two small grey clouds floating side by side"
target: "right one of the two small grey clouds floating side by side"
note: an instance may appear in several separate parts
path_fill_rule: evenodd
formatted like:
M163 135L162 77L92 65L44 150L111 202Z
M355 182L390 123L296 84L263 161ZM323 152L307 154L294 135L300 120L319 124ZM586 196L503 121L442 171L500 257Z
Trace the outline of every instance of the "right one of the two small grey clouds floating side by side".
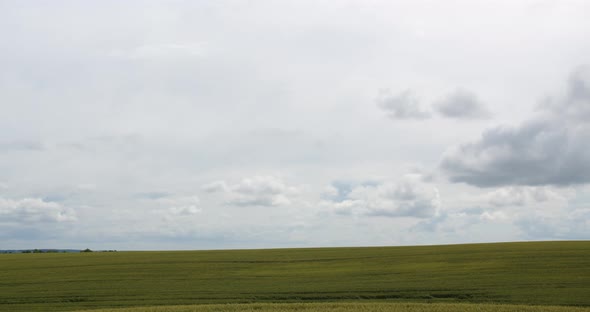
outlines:
M454 119L488 119L492 114L475 94L466 90L456 90L433 105L444 117Z

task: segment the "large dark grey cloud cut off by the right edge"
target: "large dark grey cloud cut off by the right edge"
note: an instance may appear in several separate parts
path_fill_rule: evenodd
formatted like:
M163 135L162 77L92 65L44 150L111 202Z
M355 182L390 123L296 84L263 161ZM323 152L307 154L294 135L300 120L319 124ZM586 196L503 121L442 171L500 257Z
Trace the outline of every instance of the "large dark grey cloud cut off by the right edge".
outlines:
M565 96L550 99L517 127L485 131L448 150L441 168L452 182L479 187L590 182L590 72L576 70Z

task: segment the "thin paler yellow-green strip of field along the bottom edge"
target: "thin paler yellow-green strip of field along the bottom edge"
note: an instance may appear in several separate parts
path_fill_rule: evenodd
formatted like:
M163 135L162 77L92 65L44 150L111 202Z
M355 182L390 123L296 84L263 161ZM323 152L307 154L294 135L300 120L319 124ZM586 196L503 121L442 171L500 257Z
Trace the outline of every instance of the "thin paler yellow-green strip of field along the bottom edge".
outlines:
M89 311L89 310L85 310ZM583 312L590 308L480 303L254 303L90 310L93 312ZM80 311L81 312L81 311Z

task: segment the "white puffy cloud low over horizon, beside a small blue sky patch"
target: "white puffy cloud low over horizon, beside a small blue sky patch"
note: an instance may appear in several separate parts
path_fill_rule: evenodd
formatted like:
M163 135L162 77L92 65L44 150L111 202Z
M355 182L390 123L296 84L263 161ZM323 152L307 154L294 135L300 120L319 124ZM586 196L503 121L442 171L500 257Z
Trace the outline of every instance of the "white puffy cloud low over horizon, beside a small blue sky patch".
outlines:
M359 185L340 201L324 201L340 215L430 218L438 213L438 190L408 175L397 183Z

